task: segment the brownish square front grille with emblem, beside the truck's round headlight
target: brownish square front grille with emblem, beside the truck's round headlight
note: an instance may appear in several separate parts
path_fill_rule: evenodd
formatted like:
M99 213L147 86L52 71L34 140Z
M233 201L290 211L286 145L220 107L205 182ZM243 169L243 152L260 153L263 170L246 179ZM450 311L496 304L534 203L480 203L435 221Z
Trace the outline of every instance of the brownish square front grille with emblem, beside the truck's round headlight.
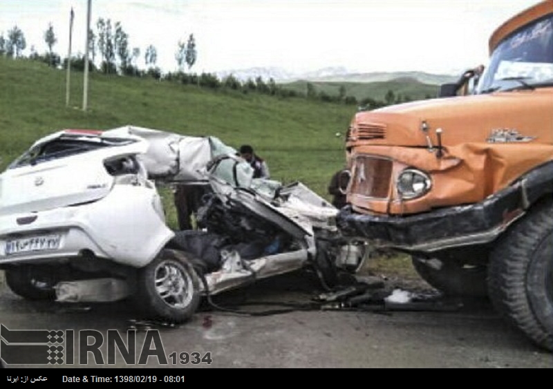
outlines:
M388 198L392 166L392 161L385 158L358 156L351 178L351 193L370 198Z

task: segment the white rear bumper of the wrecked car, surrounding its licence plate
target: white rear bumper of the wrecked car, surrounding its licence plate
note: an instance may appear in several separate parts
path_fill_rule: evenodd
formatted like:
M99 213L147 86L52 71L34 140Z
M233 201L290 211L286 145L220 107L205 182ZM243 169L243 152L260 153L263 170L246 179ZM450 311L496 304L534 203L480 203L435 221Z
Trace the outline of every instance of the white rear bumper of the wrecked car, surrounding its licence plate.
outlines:
M109 196L82 207L0 216L0 264L71 258L90 250L115 263L143 267L174 236L154 208L156 202L160 198L155 189L117 185ZM26 216L37 219L18 225L17 219ZM41 236L45 231L62 236L59 249L6 255L8 240Z

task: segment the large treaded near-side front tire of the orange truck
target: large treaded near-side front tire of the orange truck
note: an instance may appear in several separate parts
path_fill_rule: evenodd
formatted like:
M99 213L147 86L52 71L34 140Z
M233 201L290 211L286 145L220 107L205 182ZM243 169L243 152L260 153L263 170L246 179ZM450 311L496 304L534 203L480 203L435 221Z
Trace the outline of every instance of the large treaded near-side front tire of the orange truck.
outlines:
M553 351L553 202L509 229L491 254L488 288L496 310Z

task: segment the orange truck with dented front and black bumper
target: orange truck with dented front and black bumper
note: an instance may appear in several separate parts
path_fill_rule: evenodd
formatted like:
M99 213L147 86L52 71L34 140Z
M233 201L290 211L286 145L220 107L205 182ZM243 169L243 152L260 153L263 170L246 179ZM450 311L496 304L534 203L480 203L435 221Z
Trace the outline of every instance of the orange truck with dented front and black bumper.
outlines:
M553 0L503 23L489 52L440 98L356 113L338 223L411 254L444 294L489 296L553 350Z

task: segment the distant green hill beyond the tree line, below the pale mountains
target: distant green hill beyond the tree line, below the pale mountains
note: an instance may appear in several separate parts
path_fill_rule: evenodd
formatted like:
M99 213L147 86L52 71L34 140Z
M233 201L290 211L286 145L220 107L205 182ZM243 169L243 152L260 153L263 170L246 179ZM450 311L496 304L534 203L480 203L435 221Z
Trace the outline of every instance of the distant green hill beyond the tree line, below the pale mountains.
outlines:
M384 96L388 91L393 91L397 96L409 96L412 100L424 99L427 97L435 97L438 94L438 86L431 84L422 84L416 79L410 77L402 77L382 82L308 82L305 80L281 84L284 88L297 91L305 94L307 84L315 86L317 93L323 92L330 96L339 95L341 86L346 88L347 96L354 96L358 101L366 97L371 97L379 101L384 101Z

